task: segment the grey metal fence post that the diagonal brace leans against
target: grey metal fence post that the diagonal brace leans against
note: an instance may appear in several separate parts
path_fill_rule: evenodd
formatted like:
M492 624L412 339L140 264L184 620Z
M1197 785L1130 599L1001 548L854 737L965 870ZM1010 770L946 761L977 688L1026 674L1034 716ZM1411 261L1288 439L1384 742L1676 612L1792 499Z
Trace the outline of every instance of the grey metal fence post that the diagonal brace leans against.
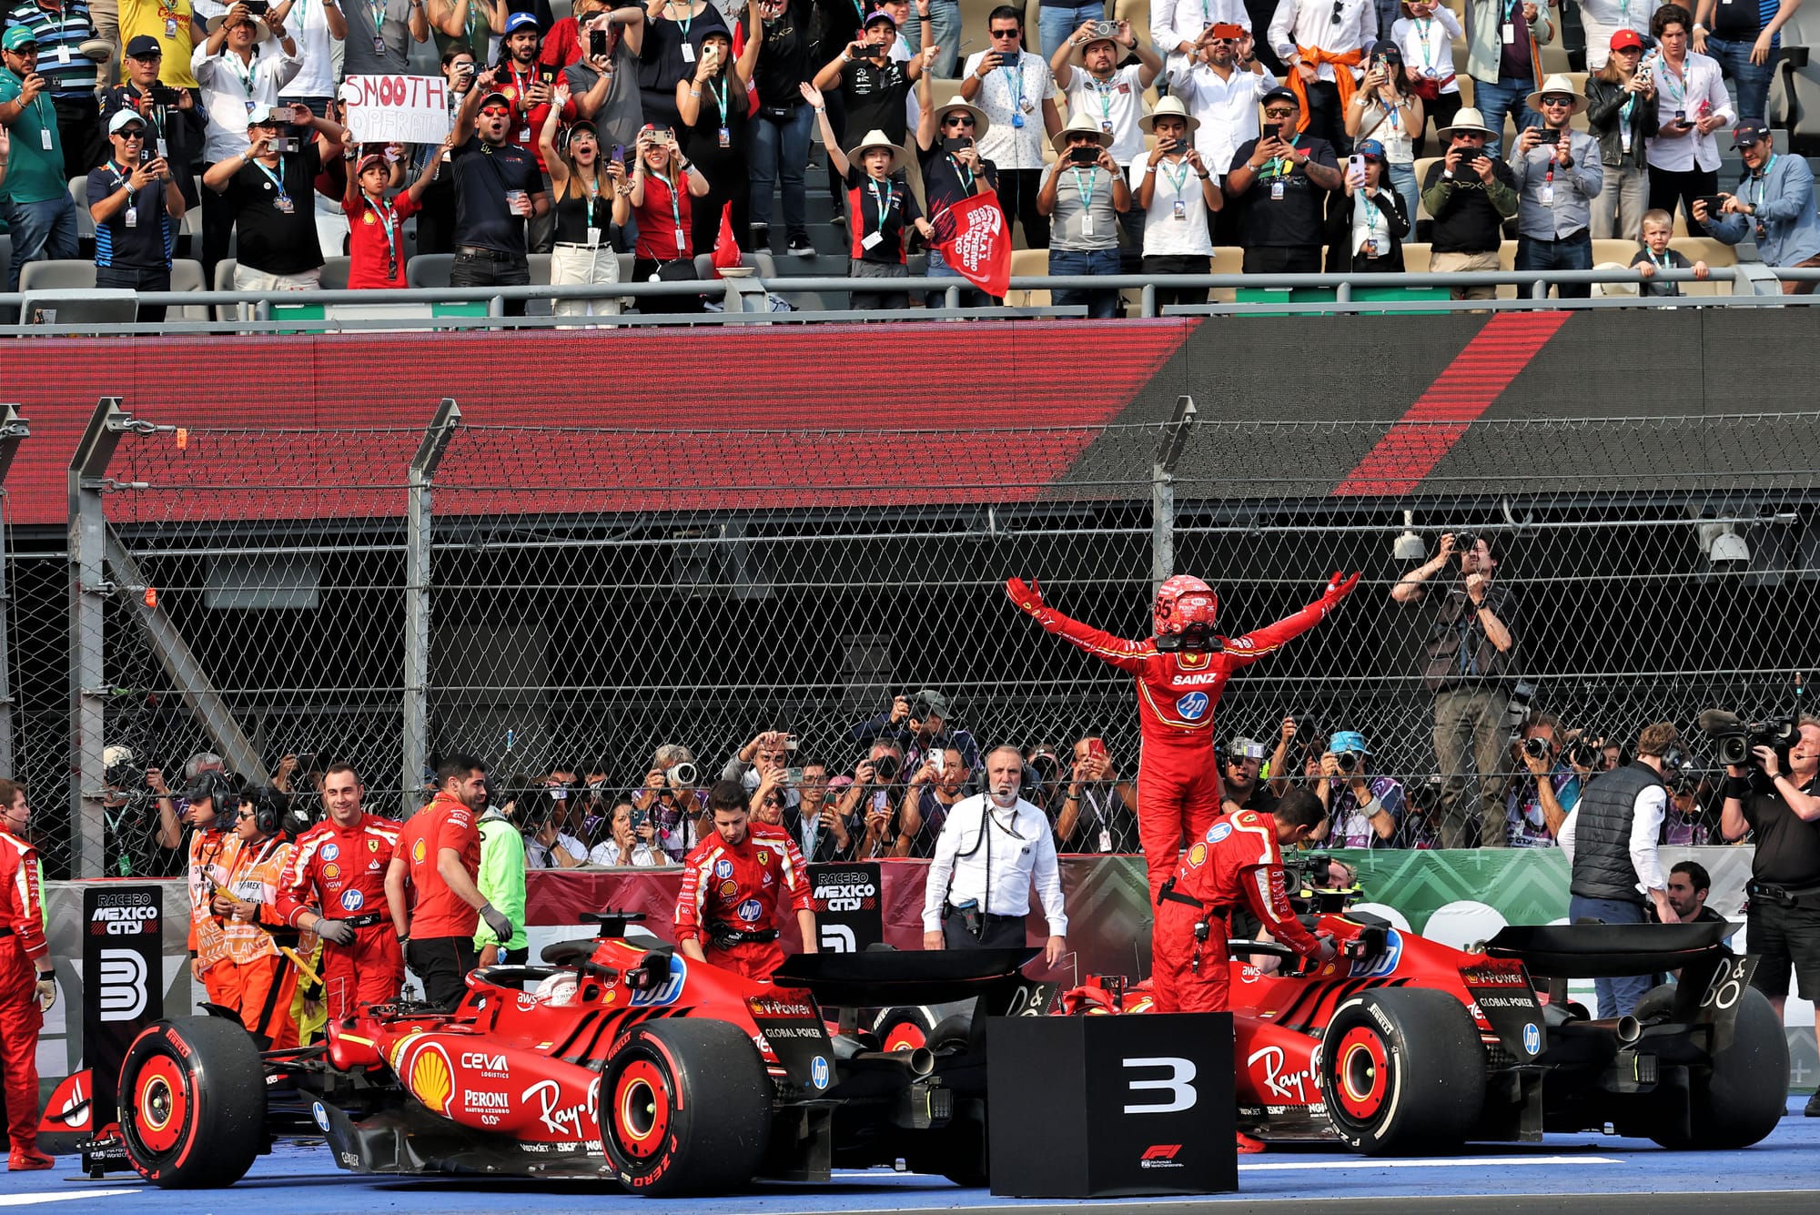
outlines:
M104 609L109 586L102 478L120 435L135 429L118 397L102 397L69 458L69 873L102 877L102 728L107 708Z

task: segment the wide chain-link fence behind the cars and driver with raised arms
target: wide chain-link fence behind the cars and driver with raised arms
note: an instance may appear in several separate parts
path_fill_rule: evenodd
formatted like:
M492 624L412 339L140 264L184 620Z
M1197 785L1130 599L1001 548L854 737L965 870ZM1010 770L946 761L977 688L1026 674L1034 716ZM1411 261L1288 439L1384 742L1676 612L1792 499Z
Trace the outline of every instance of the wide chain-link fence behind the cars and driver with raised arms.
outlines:
M1314 600L1334 569L1363 571L1338 613L1232 680L1218 733L1274 746L1294 717L1299 773L1310 744L1318 757L1330 731L1358 729L1374 771L1412 789L1438 775L1429 615L1389 591L1443 531L1491 544L1522 606L1529 704L1571 728L1634 740L1660 718L1691 729L1707 706L1787 711L1820 668L1811 413L1023 431L448 415L428 438L178 422L122 427L109 484L89 491L113 546L87 591L98 646L78 629L80 560L13 553L7 569L13 748L47 871L116 871L80 829L84 808L122 800L102 746L173 786L202 751L258 778L306 757L293 788L351 760L369 802L404 813L424 762L453 749L508 791L551 771L632 789L662 744L712 778L784 729L797 762L850 773L857 726L937 689L981 744L1067 762L1103 735L1136 775L1128 677L1023 618L1008 575L1145 637L1170 569L1214 584L1227 633ZM69 671L95 653L102 678L78 689ZM80 797L60 804L47 791L69 769Z

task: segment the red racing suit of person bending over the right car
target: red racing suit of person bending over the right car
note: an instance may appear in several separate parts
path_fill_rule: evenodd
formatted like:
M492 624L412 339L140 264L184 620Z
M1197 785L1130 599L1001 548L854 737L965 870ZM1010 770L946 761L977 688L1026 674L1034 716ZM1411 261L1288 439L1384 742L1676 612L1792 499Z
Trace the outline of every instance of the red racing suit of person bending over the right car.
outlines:
M1227 1011L1227 922L1241 902L1296 953L1307 957L1321 948L1289 906L1276 822L1256 809L1214 822L1188 848L1159 899L1150 935L1158 1013ZM1196 924L1207 924L1203 940L1196 940Z

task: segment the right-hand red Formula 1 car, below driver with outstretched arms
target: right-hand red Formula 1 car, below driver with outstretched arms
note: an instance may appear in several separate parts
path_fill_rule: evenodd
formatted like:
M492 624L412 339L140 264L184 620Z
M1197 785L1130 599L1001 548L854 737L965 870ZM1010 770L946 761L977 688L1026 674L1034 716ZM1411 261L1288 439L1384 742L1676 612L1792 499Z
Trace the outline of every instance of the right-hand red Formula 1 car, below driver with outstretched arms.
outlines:
M1230 942L1238 1126L1258 1139L1401 1155L1613 1124L1671 1148L1744 1148L1787 1104L1782 1022L1724 924L1505 928L1467 953L1367 913L1303 922L1341 946L1320 973L1265 973L1247 959L1296 955ZM1531 979L1676 969L1633 1015L1600 1020L1543 1002ZM1119 984L1059 1002L1147 1009Z

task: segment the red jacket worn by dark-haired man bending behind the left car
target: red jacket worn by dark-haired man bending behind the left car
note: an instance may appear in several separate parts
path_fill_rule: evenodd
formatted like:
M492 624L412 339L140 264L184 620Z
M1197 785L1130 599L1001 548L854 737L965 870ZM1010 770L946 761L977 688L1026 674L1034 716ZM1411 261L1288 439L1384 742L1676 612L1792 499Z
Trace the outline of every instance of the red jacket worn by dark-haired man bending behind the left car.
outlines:
M777 928L779 904L786 895L790 911L812 909L803 853L788 831L755 822L743 844L710 835L682 860L677 942L712 944L710 924L739 933Z

